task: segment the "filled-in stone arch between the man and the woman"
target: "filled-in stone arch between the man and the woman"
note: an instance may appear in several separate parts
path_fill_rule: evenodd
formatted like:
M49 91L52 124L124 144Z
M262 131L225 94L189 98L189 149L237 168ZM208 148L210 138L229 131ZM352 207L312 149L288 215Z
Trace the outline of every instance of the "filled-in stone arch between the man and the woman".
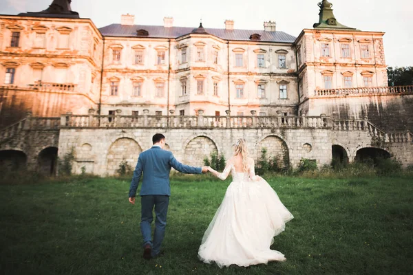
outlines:
M184 163L191 166L203 166L204 158L211 153L218 153L218 148L210 137L198 135L184 146Z

